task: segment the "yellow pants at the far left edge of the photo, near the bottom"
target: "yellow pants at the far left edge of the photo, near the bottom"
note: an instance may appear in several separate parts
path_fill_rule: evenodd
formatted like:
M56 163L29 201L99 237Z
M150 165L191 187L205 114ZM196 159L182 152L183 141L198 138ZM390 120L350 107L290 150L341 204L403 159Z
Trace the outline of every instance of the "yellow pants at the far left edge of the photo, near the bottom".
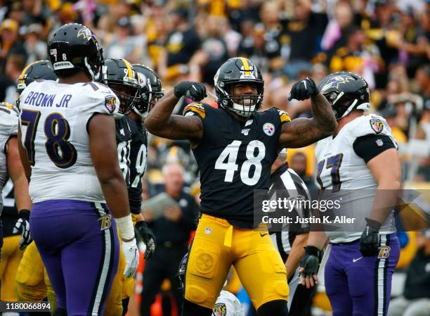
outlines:
M15 275L22 258L20 251L21 235L8 236L3 239L0 261L1 301L18 301L15 288Z

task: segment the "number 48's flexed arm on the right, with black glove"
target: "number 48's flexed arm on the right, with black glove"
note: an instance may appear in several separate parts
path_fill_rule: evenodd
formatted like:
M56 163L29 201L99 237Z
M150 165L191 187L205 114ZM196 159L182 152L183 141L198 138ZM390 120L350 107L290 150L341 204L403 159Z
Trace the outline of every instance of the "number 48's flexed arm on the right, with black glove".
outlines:
M282 125L279 148L308 146L333 134L337 128L330 103L318 91L313 80L306 78L293 85L289 100L311 98L313 118L297 118Z

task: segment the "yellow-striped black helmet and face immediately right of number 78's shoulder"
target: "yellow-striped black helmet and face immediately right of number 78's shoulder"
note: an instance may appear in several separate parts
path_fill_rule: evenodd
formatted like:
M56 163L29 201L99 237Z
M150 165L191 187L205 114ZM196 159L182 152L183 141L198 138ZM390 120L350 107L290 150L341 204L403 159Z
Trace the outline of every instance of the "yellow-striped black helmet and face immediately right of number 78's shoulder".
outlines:
M141 89L138 74L131 63L124 58L106 59L102 70L102 80L119 98L118 112L130 113L139 101L138 96Z

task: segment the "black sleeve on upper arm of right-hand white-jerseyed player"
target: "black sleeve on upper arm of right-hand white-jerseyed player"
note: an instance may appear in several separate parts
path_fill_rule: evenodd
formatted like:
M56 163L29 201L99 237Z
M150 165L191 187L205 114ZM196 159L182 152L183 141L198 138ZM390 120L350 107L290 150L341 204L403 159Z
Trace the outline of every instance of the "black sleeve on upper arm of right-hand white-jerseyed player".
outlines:
M368 163L372 158L390 148L396 148L393 140L388 135L369 134L357 139L353 143L353 148L357 156L363 158Z

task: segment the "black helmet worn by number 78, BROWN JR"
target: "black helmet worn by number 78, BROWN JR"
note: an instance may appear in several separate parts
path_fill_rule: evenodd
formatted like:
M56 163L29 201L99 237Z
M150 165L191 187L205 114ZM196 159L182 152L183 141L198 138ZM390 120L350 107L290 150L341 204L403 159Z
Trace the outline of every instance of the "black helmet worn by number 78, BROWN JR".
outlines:
M89 27L78 23L58 27L49 37L48 56L58 77L73 68L88 72L93 80L100 77L103 49Z

